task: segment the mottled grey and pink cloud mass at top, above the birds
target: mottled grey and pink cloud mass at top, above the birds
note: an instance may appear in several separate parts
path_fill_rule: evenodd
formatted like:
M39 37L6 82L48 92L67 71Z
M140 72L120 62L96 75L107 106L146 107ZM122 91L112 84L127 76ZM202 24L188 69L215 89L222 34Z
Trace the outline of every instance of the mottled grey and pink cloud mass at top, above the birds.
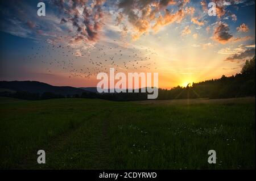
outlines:
M108 14L104 10L105 0L55 0L52 4L59 10L57 16L61 19L61 31L64 35L60 41L71 45L90 47L101 37L105 18Z

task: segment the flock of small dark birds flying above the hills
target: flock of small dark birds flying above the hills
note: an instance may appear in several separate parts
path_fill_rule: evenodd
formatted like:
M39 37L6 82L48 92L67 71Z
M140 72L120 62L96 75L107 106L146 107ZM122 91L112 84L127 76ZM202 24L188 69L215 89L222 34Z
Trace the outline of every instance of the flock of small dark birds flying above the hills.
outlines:
M133 45L127 48L117 44L112 44L111 47L98 44L89 49L81 49L81 45L49 44L45 41L45 45L31 48L32 54L27 56L27 60L39 60L46 64L48 73L59 68L65 73L68 72L69 78L91 78L101 72L108 73L110 68L126 73L156 69L153 59L157 53L141 44L139 48ZM86 45L84 43L85 47Z

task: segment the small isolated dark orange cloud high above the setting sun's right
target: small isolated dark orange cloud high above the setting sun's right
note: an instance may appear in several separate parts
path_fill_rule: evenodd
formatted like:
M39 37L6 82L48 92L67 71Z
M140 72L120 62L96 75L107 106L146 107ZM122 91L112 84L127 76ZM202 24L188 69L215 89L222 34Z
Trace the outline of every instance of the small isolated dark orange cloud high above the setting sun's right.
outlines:
M217 27L214 29L213 39L219 43L227 43L233 35L229 33L229 26L226 23L218 22Z

